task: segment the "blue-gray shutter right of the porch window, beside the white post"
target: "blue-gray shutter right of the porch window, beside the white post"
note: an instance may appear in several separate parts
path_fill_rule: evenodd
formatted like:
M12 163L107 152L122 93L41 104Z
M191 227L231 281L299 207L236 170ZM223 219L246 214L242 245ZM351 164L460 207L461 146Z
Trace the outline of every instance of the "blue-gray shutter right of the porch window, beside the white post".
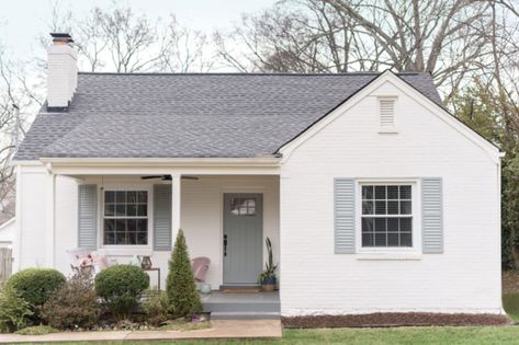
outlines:
M171 251L171 185L154 185L154 251Z

